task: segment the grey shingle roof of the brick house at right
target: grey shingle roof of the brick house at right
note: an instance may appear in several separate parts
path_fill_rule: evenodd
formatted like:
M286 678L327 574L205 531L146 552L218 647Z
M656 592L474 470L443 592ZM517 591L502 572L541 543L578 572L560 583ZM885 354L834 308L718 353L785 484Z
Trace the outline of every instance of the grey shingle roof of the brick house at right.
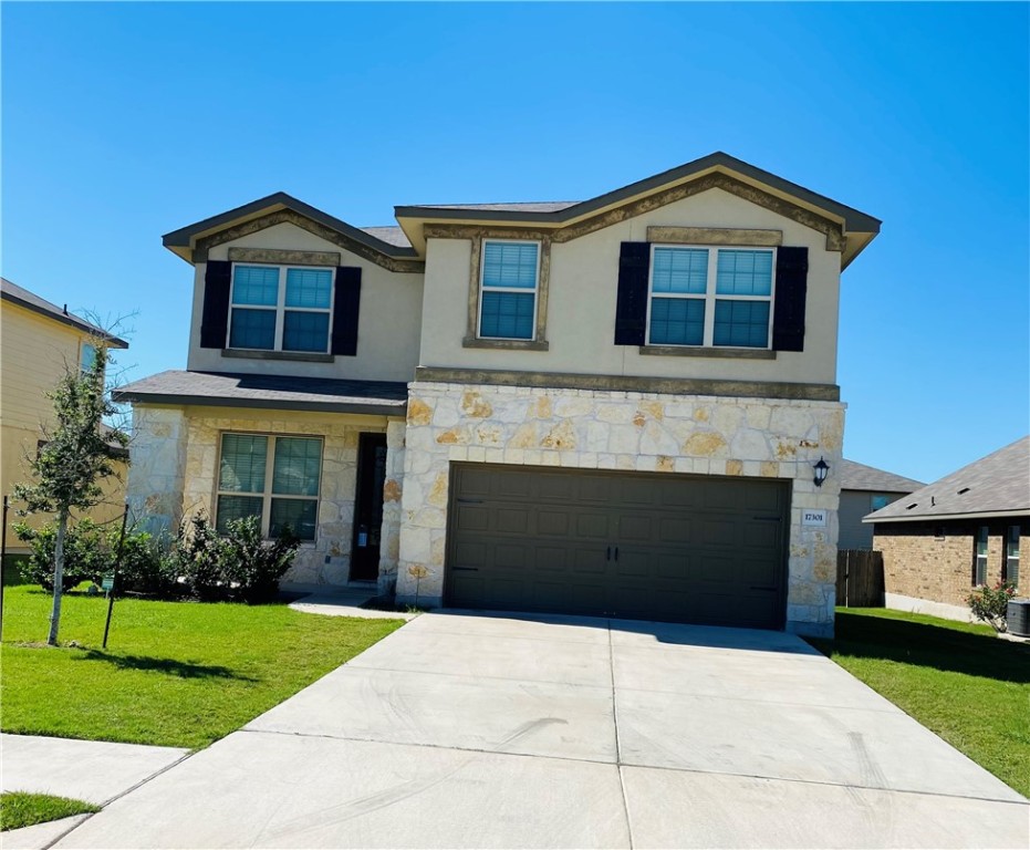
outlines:
M870 514L863 522L1030 515L1030 436Z

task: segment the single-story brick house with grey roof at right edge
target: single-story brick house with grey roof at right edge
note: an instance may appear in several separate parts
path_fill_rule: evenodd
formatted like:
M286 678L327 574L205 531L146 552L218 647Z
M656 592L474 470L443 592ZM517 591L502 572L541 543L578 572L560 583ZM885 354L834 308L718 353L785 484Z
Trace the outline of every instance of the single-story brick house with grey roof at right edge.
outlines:
M866 517L883 552L888 608L965 618L978 584L1030 595L1020 539L1030 535L1030 436Z

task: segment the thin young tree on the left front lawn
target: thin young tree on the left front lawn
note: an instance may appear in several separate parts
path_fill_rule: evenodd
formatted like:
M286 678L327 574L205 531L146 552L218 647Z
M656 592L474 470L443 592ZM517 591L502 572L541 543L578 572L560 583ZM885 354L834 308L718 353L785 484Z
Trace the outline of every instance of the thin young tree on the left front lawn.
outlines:
M104 427L104 418L117 408L104 385L110 353L103 339L93 341L96 357L93 364L79 371L66 366L56 387L46 394L53 402L52 428L43 429L43 438L29 466L34 484L14 485L14 498L25 502L19 510L27 514L58 515L54 551L53 611L50 615L51 646L58 643L61 623L61 594L64 574L64 538L72 510L87 510L103 498L101 483L116 476L112 463L112 446L126 446L128 436L118 429Z

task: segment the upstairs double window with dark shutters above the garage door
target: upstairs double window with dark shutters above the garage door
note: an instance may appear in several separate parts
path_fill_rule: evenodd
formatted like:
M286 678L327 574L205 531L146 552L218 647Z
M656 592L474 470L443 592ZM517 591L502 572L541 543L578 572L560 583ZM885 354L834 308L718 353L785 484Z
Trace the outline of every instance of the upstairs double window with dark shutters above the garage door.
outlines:
M647 342L769 349L771 249L654 246Z

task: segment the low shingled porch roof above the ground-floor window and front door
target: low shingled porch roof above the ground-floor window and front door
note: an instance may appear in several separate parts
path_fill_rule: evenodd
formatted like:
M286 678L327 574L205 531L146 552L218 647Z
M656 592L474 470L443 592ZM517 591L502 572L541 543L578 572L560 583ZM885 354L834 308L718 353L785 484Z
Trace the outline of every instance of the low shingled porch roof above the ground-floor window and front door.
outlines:
M407 384L170 370L114 393L118 402L403 415Z

